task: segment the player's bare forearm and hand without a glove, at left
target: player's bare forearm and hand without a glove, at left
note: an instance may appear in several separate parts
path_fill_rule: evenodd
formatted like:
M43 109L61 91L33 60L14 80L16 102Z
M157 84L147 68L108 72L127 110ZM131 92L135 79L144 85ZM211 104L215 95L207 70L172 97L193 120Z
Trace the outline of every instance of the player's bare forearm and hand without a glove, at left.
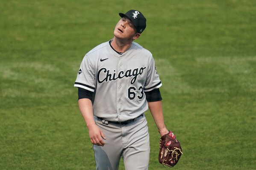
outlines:
M106 139L106 137L94 122L91 100L88 98L79 99L78 105L79 105L80 112L82 113L82 116L85 119L87 128L89 130L91 143L99 146L104 146L104 141L102 140L102 138Z

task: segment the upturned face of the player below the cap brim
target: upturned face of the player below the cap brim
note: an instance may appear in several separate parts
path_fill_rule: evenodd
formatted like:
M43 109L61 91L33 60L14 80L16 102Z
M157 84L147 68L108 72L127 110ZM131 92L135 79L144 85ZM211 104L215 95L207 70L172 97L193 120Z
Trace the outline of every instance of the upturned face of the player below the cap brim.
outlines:
M115 26L114 35L121 39L135 40L140 34L136 32L135 26L129 18L122 17Z

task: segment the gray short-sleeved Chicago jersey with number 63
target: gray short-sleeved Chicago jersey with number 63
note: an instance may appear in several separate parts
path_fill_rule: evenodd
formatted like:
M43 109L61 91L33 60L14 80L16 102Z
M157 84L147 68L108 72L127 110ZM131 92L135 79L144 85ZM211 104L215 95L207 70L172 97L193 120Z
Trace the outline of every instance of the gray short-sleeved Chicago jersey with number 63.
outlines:
M162 83L147 49L132 42L120 55L106 42L85 55L74 86L94 92L94 115L122 122L143 114L148 109L144 92Z

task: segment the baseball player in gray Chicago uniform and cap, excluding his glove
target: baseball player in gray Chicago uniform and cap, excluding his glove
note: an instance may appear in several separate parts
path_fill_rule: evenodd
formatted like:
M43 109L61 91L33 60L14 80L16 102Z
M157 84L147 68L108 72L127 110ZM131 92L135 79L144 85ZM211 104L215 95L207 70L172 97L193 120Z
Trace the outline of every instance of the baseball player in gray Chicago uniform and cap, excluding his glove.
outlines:
M162 83L152 54L133 42L146 28L137 10L119 13L114 38L96 46L82 60L74 86L88 127L97 170L147 170L149 133L144 112L150 109L165 135Z

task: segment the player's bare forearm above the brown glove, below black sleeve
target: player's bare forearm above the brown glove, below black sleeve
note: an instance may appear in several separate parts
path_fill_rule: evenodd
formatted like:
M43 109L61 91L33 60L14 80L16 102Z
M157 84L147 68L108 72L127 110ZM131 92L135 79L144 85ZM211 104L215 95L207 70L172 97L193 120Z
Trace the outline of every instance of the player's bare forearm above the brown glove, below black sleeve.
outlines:
M161 136L167 134L169 131L165 127L163 110L162 110L162 101L148 102L148 107L153 116L153 119L156 123L156 127Z

